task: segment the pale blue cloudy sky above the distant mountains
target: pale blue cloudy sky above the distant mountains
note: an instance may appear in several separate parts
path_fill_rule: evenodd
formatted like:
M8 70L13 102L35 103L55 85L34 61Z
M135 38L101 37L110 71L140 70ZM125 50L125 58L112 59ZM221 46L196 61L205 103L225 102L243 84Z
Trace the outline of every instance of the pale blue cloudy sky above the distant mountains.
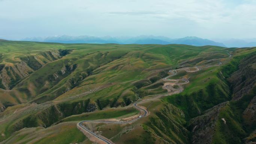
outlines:
M256 0L0 0L0 38L255 38Z

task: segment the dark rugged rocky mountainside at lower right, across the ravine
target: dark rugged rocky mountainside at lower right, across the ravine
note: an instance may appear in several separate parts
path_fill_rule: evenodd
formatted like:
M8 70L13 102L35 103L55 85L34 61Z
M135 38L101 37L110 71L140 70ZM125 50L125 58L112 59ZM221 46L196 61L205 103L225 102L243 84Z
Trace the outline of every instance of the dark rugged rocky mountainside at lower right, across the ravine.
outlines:
M192 144L254 142L245 138L255 129L256 123L256 55L249 55L239 63L228 81L233 89L231 101L206 110L189 123ZM243 117L243 120L240 120ZM218 137L217 139L215 137Z

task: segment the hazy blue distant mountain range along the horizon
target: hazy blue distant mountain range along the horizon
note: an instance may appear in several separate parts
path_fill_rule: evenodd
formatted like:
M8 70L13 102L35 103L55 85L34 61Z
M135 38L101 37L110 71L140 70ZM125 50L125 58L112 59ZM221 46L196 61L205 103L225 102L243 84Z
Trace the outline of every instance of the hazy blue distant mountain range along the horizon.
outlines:
M118 43L118 44L184 44L193 46L223 46L223 43L214 42L199 37L183 37L180 39L170 39L163 36L137 36L137 37L93 37L93 36L53 36L53 37L33 37L22 39L34 42L56 42L56 43Z

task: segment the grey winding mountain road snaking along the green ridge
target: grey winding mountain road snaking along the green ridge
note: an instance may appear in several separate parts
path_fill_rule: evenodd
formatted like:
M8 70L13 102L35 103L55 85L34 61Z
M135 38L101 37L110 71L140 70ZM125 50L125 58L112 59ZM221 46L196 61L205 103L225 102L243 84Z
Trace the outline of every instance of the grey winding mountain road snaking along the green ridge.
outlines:
M91 132L88 128L86 128L85 126L83 126L82 124L85 123L85 122L93 122L93 123L115 123L115 124L125 124L125 123L132 123L132 122L135 122L136 120L138 119L141 119L145 116L147 116L148 114L148 111L144 108L141 108L140 106L138 106L137 104L141 103L141 102L145 102L145 101L150 101L152 99L158 99L158 98L161 98L162 96L168 96L168 95L173 95L173 94L178 94L180 92L183 91L182 88L180 88L180 85L184 85L186 83L189 83L189 80L187 78L183 78L183 79L168 79L169 77L172 77L174 75L177 74L177 71L178 70L185 70L189 73L192 73L192 72L195 72L195 71L199 71L200 68L198 67L193 67L195 68L195 70L191 70L191 68L189 67L184 67L184 68L180 68L180 69L177 69L177 70L170 70L169 72L172 73L170 76L167 76L167 77L164 77L163 80L164 82L168 82L168 83L173 83L174 85L179 85L179 89L175 89L173 88L172 86L169 85L166 85L165 86L165 89L169 89L169 90L173 90L173 92L169 92L167 94L159 94L159 95L156 95L154 98L149 98L149 99L145 99L145 100L142 100L142 101L139 101L139 102L135 102L133 104L133 106L139 110L139 111L142 111L143 114L141 114L140 116L136 117L135 119L132 119L132 120L128 120L128 121L108 121L108 120L83 120L79 123L77 123L77 128L80 129L80 131L82 132L88 132L89 134L93 135L95 138L97 138L98 140L101 140L101 142L103 143L106 143L106 144L113 144L112 141L110 140L107 140L106 138L103 138L103 137L100 137L98 136L97 134L95 134L94 132ZM179 81L184 81L182 83L178 83Z

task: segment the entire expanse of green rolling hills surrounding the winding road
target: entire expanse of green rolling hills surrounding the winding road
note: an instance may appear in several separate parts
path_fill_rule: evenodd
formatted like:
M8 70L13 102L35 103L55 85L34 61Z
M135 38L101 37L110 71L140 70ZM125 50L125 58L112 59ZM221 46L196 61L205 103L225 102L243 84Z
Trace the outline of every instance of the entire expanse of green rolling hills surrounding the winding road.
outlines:
M0 142L92 143L76 129L78 121L137 114L131 104L166 93L162 78L180 66L201 68L172 77L189 78L182 93L143 104L150 115L133 124L100 124L95 131L118 144L255 141L255 52L1 41Z

